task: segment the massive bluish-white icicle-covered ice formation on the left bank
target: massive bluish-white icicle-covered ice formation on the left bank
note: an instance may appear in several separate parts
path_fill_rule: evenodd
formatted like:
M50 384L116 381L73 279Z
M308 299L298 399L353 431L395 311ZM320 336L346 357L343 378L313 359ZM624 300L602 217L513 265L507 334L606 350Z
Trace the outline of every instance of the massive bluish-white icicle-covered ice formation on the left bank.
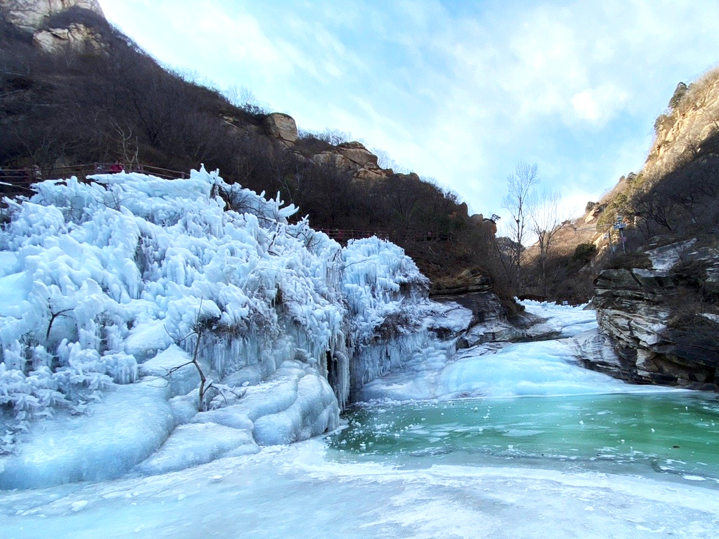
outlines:
M426 338L427 283L399 247L343 249L295 212L205 170L46 181L9 201L0 487L178 469L336 428L350 392Z

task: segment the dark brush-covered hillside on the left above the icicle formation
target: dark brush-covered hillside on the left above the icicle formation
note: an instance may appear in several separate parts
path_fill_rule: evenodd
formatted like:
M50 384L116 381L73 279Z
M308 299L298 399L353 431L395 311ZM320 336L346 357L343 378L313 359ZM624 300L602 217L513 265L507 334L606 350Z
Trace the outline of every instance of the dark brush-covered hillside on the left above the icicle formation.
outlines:
M501 280L493 230L472 220L454 193L376 166L372 179L357 178L330 137L304 134L291 144L273 137L267 111L235 106L162 68L93 11L65 10L45 29L73 24L85 28L86 44L50 53L0 19L3 167L37 165L49 178L57 167L87 162L204 164L228 183L279 192L316 228L382 231L435 281L467 269Z

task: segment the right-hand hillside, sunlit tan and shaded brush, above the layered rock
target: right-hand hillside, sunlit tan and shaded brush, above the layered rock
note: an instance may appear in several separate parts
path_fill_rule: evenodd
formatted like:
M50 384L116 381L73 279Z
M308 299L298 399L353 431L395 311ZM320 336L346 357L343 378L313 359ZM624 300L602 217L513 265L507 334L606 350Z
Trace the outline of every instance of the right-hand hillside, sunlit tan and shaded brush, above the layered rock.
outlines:
M719 68L689 85L679 83L654 131L644 167L622 176L557 233L549 298L587 300L602 270L641 267L637 253L649 248L694 238L696 248L717 246ZM532 252L526 258L528 290L539 290Z

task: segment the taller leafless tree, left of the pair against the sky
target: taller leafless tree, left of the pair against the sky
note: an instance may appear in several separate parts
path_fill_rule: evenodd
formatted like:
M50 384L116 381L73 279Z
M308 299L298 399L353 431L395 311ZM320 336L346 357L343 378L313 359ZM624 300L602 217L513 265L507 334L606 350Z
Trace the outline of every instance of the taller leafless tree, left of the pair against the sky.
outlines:
M515 294L521 293L522 287L522 252L523 242L529 231L529 203L533 185L539 183L536 163L529 165L519 162L516 169L507 176L507 194L502 199L502 207L512 216L509 220L510 248L506 250L511 282Z

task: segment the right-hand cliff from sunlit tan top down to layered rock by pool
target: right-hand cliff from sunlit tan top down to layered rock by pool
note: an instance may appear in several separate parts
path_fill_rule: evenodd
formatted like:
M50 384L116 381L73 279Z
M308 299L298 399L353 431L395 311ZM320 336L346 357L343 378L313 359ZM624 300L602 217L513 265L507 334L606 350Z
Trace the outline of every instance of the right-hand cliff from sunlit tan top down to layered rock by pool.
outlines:
M597 228L623 216L628 254L606 254L611 269L592 300L618 359L585 354L585 364L631 382L717 390L719 70L679 83L654 130L643 169L592 208Z

